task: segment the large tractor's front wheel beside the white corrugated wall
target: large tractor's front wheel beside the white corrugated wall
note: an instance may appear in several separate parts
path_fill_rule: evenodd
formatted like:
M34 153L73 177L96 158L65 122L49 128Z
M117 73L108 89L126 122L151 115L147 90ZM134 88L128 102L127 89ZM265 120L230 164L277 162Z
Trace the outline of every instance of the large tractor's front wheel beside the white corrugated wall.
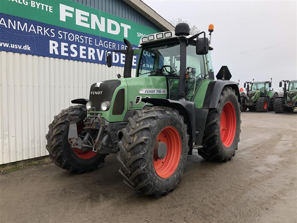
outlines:
M77 122L78 135L83 134L83 119L87 116L86 106L70 106L56 115L48 126L46 149L50 153L49 157L58 167L69 172L89 172L97 169L98 165L104 162L106 155L71 148L68 142L68 114L72 112L79 118Z

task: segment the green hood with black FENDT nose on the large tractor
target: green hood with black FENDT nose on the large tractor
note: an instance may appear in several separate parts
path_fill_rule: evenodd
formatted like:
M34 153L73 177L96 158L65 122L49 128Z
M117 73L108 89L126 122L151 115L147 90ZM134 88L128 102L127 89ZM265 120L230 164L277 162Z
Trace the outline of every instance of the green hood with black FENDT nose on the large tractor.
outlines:
M143 98L167 98L166 78L136 77L101 81L92 84L88 117L101 117L108 122L121 122L127 111L141 109ZM107 109L102 109L102 103Z

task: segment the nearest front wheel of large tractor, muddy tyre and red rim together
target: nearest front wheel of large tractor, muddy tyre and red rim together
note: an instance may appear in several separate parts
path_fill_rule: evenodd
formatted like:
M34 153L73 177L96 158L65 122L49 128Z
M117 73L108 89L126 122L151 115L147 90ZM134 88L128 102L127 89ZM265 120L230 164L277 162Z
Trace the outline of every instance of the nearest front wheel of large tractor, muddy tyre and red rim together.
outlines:
M185 171L189 151L187 125L177 110L168 107L145 107L137 112L128 119L118 143L119 172L124 183L142 194L166 195Z

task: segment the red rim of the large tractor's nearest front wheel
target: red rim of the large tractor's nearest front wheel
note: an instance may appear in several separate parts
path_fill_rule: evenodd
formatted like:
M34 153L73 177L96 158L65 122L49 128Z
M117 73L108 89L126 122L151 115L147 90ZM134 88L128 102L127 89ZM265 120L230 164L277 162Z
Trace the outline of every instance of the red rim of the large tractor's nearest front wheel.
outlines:
M167 153L164 159L159 159L155 155L153 156L154 168L159 177L168 178L175 172L179 164L181 157L181 138L176 128L168 126L160 132L156 142L158 141L166 144Z

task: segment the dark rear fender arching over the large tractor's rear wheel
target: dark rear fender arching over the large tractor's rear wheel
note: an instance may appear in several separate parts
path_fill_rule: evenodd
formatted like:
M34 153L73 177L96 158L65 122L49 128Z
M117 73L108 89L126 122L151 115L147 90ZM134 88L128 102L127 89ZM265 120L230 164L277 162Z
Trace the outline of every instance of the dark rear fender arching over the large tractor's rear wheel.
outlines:
M211 109L218 107L219 98L224 87L232 87L232 89L235 90L235 93L237 95L238 103L241 103L240 92L236 82L229 80L217 80L211 81L208 84L206 94L204 97L203 109Z

